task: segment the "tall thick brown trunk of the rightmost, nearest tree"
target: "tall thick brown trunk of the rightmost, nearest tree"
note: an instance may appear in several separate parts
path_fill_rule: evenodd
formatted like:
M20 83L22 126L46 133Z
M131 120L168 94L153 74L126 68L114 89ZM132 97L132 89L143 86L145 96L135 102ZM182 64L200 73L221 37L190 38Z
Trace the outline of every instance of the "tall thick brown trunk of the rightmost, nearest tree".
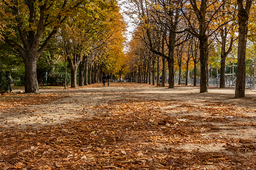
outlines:
M247 0L246 6L243 8L243 1L237 0L238 3L238 62L237 62L237 82L235 97L245 97L245 56L246 56L246 41L248 32L248 19L251 4L253 1Z

